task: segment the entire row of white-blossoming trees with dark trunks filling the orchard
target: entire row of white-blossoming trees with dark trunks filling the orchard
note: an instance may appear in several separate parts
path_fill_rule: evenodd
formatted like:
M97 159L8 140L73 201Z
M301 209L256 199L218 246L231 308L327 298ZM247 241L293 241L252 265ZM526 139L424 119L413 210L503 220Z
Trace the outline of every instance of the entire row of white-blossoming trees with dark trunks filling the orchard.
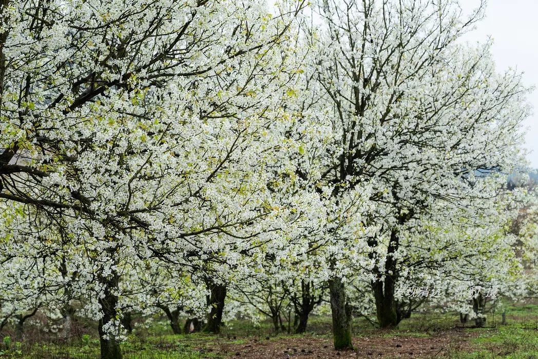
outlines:
M506 187L528 89L461 40L483 12L0 0L0 325L40 311L68 335L77 313L104 359L131 313L302 332L327 301L337 349L352 315L396 326L424 289L483 318L534 253Z

